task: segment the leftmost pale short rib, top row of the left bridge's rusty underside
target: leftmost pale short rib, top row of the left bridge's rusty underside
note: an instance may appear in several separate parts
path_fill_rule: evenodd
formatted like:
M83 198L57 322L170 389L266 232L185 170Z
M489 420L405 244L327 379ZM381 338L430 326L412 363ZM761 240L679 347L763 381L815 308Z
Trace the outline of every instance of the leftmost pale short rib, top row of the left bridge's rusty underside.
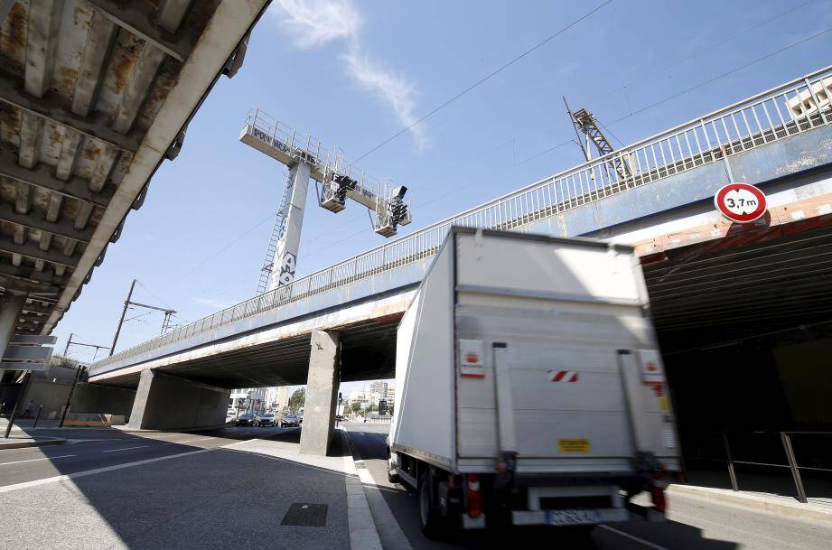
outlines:
M63 0L30 0L24 88L40 98L49 89L60 37Z

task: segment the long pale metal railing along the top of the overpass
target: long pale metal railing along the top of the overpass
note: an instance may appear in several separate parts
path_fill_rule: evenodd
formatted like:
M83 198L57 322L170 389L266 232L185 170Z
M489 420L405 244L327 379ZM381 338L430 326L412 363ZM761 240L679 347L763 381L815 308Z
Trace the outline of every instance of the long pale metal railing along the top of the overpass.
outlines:
M433 256L451 226L512 229L832 122L832 66L652 135L102 359L108 365ZM822 96L821 96L822 93ZM815 101L820 108L802 109ZM275 123L276 132L282 132ZM617 170L616 167L625 169Z

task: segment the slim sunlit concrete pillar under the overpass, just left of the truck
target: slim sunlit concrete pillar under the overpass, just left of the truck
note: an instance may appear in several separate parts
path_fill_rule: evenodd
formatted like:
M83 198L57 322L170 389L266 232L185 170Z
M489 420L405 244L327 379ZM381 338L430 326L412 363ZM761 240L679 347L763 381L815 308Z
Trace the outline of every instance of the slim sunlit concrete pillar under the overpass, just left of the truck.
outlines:
M335 429L341 380L338 332L313 331L311 343L301 452L325 455Z

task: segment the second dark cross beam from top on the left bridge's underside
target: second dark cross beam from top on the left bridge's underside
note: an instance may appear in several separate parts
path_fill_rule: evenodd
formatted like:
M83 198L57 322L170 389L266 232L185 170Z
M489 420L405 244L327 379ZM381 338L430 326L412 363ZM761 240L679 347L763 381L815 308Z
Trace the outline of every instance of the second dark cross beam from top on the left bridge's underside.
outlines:
M51 92L43 94L41 98L27 94L20 88L18 79L5 72L0 72L0 101L61 126L68 126L122 151L136 153L142 143L143 136L139 132L122 135L113 131L109 127L109 117L103 113L93 112L88 117L79 117L71 111L69 99Z

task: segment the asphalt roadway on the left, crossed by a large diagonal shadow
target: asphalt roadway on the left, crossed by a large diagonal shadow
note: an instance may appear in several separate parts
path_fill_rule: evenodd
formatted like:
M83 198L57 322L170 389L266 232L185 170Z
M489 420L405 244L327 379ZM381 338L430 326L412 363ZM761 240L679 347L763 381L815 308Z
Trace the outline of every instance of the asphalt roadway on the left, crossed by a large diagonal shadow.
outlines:
M281 458L299 435L74 430L61 433L72 443L2 450L0 548L350 550L345 475Z

